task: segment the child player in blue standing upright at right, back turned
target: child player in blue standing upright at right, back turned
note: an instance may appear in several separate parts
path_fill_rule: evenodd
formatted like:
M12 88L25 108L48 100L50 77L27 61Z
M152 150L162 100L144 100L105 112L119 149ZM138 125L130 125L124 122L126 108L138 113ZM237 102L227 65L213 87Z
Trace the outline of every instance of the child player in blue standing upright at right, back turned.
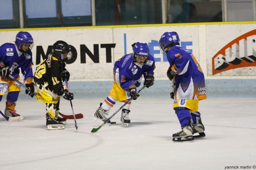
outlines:
M206 99L204 73L199 63L188 49L180 46L176 32L165 32L159 45L170 63L167 76L174 81L175 92L171 93L171 98L174 99L173 109L182 129L172 135L173 140L193 140L193 134L197 132L199 136L205 136L201 114L198 112L199 100Z

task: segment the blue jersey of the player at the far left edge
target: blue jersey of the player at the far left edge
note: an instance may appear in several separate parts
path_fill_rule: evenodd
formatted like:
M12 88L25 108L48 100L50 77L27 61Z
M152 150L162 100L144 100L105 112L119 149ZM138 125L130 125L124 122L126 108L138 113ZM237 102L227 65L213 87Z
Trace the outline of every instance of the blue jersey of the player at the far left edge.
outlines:
M20 70L24 75L24 79L33 78L32 72L32 52L29 49L27 53L18 50L16 44L5 43L0 47L0 62L10 67L10 74L18 77Z

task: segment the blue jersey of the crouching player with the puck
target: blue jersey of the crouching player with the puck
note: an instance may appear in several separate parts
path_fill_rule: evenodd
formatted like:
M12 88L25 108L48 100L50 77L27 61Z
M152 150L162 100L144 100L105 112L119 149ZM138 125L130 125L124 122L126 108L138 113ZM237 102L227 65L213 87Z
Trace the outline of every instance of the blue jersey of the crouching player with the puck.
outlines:
M152 55L148 56L148 61L144 65L137 65L133 62L132 53L124 55L118 59L114 65L114 75L116 83L128 91L128 88L135 84L140 86L142 75L144 77L148 74L154 75L155 60Z

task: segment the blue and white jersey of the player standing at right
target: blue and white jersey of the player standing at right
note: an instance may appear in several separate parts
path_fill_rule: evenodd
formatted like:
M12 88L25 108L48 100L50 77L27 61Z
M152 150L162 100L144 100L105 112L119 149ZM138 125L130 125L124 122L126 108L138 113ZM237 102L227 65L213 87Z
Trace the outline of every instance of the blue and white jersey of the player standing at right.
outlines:
M167 59L177 74L175 80L175 99L206 99L204 73L195 56L185 48L173 46Z

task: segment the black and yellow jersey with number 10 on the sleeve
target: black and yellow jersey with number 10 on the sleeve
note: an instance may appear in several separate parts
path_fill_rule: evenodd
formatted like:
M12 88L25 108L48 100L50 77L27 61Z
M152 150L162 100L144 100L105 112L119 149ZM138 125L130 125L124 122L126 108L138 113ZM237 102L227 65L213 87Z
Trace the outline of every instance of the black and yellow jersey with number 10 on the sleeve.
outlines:
M41 88L44 87L46 90L59 95L63 87L61 71L65 66L65 62L49 54L47 59L36 67L34 75L35 83L39 84Z

